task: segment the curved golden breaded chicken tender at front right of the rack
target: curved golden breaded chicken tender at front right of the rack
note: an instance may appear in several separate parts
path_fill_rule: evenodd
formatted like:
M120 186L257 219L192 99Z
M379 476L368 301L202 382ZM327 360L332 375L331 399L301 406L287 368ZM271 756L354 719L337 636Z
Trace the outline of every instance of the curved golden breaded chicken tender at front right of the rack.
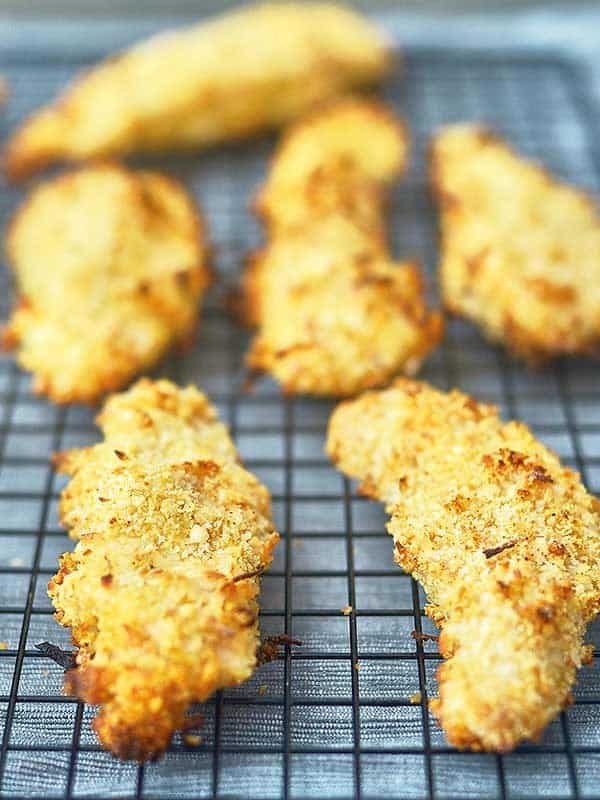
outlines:
M600 611L600 503L525 425L398 380L341 404L328 452L386 503L395 558L442 628L431 709L459 748L537 739L571 700Z

